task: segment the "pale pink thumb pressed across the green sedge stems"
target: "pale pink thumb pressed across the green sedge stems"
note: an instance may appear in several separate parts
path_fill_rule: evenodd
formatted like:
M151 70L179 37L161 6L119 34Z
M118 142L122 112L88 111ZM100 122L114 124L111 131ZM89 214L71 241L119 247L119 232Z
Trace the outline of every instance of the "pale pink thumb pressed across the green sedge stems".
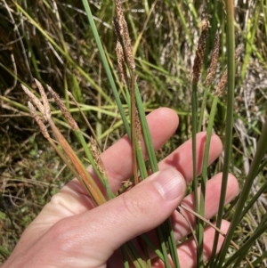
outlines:
M83 243L86 252L88 245L93 245L93 257L105 262L126 241L163 223L181 203L185 191L182 175L168 168L150 175L116 199L78 215L78 231L88 238Z

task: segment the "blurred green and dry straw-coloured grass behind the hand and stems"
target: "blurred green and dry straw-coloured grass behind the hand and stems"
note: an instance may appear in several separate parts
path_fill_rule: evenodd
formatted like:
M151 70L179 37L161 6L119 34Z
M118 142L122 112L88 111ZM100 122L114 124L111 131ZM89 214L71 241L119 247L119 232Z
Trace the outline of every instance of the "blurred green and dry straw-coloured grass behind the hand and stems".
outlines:
M266 118L267 4L263 0L236 2L236 45L240 45L241 53L237 61L231 173L238 177L242 187ZM203 74L210 61L217 29L221 36L219 67L208 93L204 120L208 119L214 88L226 66L223 1L206 1L206 6L201 3L190 0L124 3L145 110L150 112L167 106L176 110L180 117L179 128L158 152L158 159L191 136L191 68L204 10L210 16L211 28ZM89 4L109 55L109 64L117 77L113 1L89 1ZM71 178L29 117L28 98L22 93L20 83L34 87L33 77L36 77L51 85L65 99L75 119L83 122L77 109L69 105L65 93L68 89L105 147L117 141L125 131L81 1L0 0L0 36L0 191L4 198L0 203L1 264L28 223ZM201 83L198 90L201 103ZM223 93L214 121L214 132L222 140L225 100L226 93ZM61 133L79 150L61 113L56 106L52 109ZM87 126L82 130L91 134ZM209 175L222 170L222 161L223 158L218 159L209 169ZM266 169L255 179L250 198L265 182ZM237 231L238 241L247 240L266 214L266 195L266 191L263 192L243 219ZM250 258L266 254L266 251L265 235L251 249ZM259 265L267 266L264 262Z

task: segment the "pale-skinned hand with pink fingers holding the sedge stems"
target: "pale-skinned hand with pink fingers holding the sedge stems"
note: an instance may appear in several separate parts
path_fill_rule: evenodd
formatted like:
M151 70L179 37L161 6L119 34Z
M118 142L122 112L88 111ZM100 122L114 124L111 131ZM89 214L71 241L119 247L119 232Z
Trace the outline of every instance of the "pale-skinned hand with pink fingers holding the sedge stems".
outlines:
M174 134L179 119L167 108L153 111L148 116L153 144L158 150ZM197 137L198 174L201 172L206 134ZM209 164L219 157L222 142L215 134L211 140ZM120 184L132 175L131 148L126 137L102 153L109 184L116 192ZM93 207L91 199L82 186L73 180L43 208L36 219L22 234L12 256L3 268L96 268L124 267L120 251L126 241L150 231L172 217L175 240L190 233L190 227L175 208L183 203L193 208L193 195L184 197L185 187L192 180L191 141L184 142L172 154L159 163L160 171L100 207ZM89 170L92 168L89 167ZM222 174L212 177L206 185L206 218L216 214ZM239 191L233 175L229 175L225 204ZM195 217L183 211L194 225ZM223 221L225 233L229 223ZM150 239L154 231L148 233ZM214 230L205 231L204 256L207 260L213 246ZM136 243L136 240L135 240ZM223 243L220 236L219 246ZM177 248L182 268L196 265L194 240L187 240ZM156 256L153 267L164 267Z

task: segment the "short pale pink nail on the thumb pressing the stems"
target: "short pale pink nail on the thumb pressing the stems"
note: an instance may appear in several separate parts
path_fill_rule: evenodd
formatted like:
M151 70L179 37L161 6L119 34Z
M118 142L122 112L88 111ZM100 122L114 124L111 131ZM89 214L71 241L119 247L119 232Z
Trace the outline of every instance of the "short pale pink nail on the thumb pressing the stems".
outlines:
M183 197L185 192L185 181L180 172L174 168L160 171L153 180L153 184L166 200L174 200Z

